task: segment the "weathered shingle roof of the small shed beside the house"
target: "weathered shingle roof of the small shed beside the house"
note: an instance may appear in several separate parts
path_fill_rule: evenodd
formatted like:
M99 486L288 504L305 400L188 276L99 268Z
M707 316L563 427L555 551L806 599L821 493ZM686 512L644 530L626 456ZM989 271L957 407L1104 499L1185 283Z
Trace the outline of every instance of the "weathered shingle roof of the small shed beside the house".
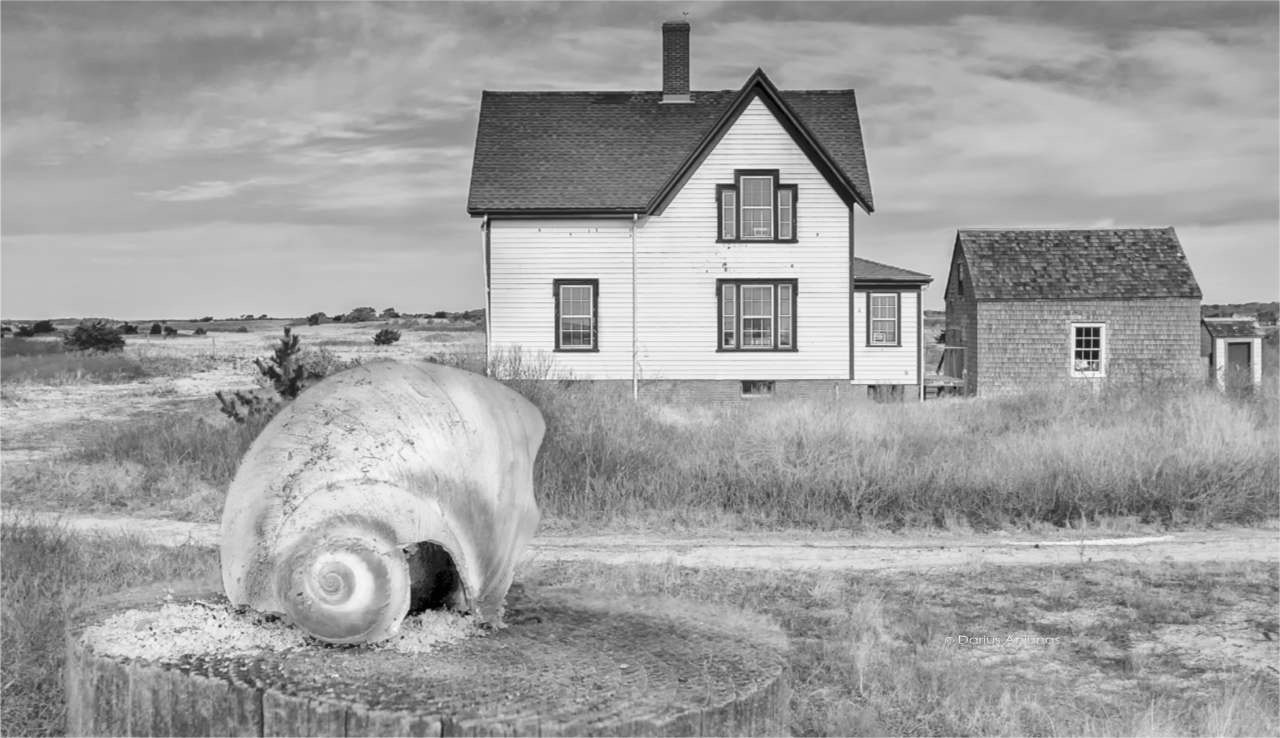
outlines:
M959 230L955 248L977 299L1201 298L1172 228Z

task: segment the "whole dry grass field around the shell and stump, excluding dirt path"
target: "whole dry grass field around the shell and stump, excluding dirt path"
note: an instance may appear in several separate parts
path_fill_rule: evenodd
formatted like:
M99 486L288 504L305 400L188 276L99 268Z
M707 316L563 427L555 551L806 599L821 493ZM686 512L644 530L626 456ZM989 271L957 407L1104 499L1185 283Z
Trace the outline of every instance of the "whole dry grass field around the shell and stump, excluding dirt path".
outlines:
M271 352L285 322L248 325L129 336L101 366L6 348L0 505L216 521L261 422L232 422L214 391L259 388L252 359ZM398 343L375 347L383 325L293 330L308 361L330 368L426 357L483 366L474 330L401 324ZM1082 523L1275 530L1268 521L1280 515L1274 393L654 408L532 381L536 362L526 370L512 384L548 420L538 495L547 523L562 530L787 531L804 541ZM69 602L166 578L216 579L216 553L192 546L6 523L3 550L5 734L63 729ZM791 638L799 735L1280 733L1275 550L1257 561L1082 555L1070 565L841 573L534 560L518 578L776 618Z

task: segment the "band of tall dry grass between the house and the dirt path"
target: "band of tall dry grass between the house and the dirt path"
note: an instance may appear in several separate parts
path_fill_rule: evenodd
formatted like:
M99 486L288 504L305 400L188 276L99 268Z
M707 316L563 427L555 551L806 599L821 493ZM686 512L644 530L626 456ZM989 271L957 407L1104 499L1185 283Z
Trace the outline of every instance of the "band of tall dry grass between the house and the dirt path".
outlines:
M1280 513L1275 411L1212 391L748 403L680 420L603 388L539 384L539 499L570 518L996 527Z

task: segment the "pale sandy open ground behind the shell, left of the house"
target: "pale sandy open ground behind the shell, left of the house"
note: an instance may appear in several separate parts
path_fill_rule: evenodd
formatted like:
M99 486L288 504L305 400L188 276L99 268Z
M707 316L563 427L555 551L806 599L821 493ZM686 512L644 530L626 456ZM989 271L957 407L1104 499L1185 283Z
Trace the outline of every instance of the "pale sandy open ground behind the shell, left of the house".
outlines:
M401 330L401 340L387 347L372 343L379 327L394 322L297 326L294 335L306 348L324 348L342 359L422 359L443 353L479 350L483 335L475 331ZM160 339L129 336L124 352L147 363L148 358L182 358L198 371L178 377L148 377L122 384L9 384L0 394L0 454L5 463L47 458L65 450L78 437L99 431L102 423L128 420L174 407L218 414L214 393L253 389L255 358L266 358L282 331L212 333Z

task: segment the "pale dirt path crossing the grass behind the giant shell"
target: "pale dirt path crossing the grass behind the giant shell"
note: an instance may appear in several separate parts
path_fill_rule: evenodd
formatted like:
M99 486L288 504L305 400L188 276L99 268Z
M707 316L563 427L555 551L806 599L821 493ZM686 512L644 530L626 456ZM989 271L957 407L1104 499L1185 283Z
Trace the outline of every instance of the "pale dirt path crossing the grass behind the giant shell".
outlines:
M99 518L55 513L4 512L4 519L64 526L84 535L129 536L147 544L218 545L218 526L142 518ZM1157 563L1280 561L1280 530L1224 528L1158 536L1070 538L1014 535L850 536L838 533L719 533L684 537L641 533L609 536L543 535L534 540L530 561L599 561L732 569L892 570L948 569L980 565L1025 567L1121 560Z

